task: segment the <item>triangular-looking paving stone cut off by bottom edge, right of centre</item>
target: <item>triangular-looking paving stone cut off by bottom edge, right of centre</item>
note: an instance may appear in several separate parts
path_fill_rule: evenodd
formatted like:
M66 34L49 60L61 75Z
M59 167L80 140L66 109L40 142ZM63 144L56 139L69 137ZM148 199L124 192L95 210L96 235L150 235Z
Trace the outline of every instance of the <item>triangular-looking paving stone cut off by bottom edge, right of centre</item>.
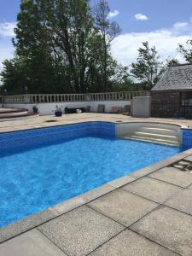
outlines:
M91 256L177 256L177 253L161 247L131 230L125 230L113 237L102 247L90 253Z

